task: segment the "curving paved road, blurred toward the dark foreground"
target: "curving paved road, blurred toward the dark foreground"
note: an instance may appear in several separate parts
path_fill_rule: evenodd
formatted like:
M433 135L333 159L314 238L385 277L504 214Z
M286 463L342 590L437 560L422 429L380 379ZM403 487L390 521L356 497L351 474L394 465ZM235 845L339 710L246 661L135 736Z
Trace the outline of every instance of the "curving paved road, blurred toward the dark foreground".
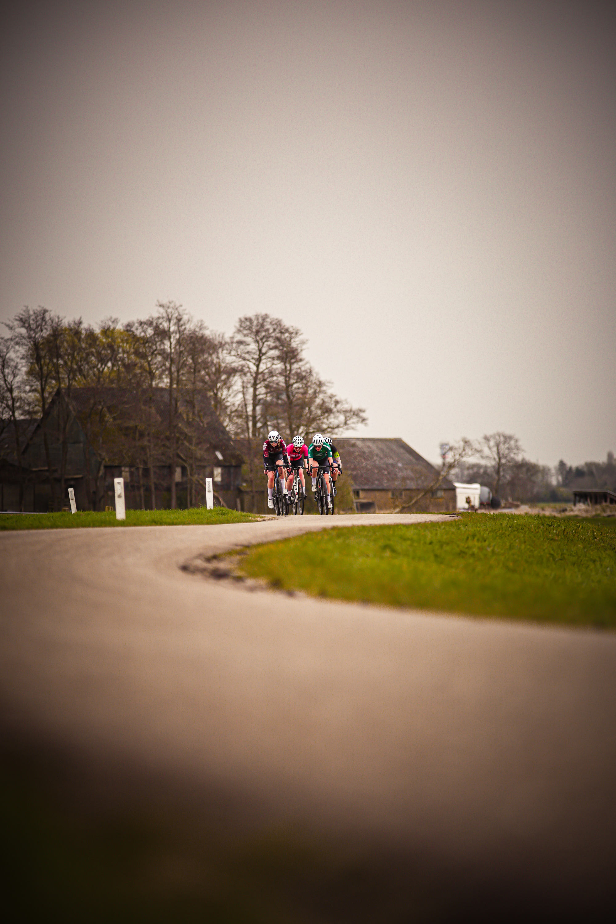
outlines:
M3 708L272 815L596 896L616 857L616 636L248 593L179 567L428 518L2 534Z

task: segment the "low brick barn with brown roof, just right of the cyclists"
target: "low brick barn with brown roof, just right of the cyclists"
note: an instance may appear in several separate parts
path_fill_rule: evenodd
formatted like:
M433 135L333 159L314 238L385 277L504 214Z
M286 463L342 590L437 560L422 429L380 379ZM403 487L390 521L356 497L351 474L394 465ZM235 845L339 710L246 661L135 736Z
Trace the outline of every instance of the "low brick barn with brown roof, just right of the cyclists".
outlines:
M419 456L404 440L366 437L335 439L343 469L353 481L353 503L357 513L390 513L417 501L413 510L455 510L455 488L450 480L438 480L434 466Z

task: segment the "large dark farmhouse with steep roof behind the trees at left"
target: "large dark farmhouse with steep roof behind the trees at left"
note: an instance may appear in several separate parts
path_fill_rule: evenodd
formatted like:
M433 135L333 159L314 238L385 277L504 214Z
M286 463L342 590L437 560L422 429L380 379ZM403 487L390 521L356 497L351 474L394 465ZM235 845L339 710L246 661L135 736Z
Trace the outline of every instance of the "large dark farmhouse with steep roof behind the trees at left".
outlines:
M74 388L55 393L42 419L18 421L0 433L0 509L46 511L68 503L74 488L80 510L114 505L114 478L125 480L127 509L169 507L172 478L179 507L205 503L205 479L219 503L236 507L242 456L206 395L174 416L176 464L169 451L169 393ZM50 477L51 468L51 477ZM21 494L21 505L20 505Z

